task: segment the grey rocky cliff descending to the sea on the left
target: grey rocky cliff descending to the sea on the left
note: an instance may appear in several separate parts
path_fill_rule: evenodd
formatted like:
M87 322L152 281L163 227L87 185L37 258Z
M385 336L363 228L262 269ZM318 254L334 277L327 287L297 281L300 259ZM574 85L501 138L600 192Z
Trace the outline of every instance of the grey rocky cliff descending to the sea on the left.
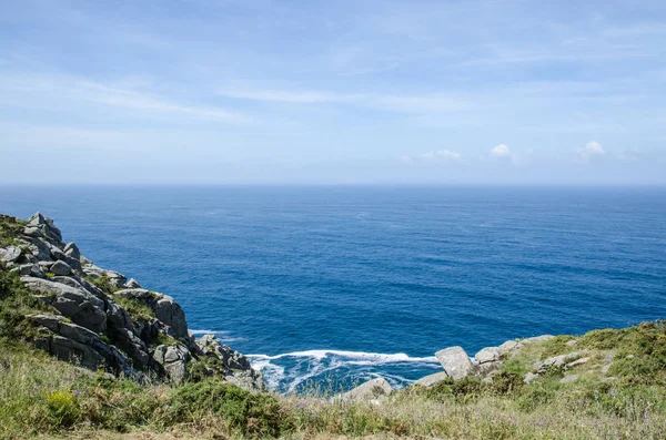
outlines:
M195 339L172 297L94 265L64 243L40 213L1 216L0 266L20 277L39 306L24 315L23 337L59 359L137 381L179 383L216 376L264 390L262 375L213 335Z

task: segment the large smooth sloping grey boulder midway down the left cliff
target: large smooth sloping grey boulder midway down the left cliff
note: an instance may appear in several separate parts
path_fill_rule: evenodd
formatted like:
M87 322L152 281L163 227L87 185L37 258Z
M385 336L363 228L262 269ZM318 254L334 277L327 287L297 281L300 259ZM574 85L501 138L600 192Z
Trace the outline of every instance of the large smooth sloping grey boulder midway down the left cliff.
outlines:
M104 303L89 291L34 277L21 282L30 290L54 295L50 304L75 324L98 334L107 328Z

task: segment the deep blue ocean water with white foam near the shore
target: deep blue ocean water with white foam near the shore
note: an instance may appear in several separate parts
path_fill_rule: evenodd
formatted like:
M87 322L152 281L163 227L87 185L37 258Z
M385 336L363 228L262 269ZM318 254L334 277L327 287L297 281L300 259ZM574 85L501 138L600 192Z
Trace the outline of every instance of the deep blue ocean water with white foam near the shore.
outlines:
M36 211L285 392L666 318L664 188L0 188L1 213Z

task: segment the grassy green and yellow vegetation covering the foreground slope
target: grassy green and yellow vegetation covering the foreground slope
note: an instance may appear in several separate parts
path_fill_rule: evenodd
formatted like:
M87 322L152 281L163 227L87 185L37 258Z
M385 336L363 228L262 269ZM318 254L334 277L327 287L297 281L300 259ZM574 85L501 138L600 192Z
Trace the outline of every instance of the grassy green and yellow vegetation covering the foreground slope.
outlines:
M659 439L666 432L664 330L657 321L593 331L574 347L534 344L492 382L466 378L410 387L383 405L248 392L211 376L222 366L205 359L192 365L190 382L141 386L82 374L0 338L0 438L150 432L149 438ZM569 371L577 381L562 383L562 375L546 374L523 382L534 359L583 349L591 350L591 360ZM605 380L599 367L610 352L607 375L616 379Z

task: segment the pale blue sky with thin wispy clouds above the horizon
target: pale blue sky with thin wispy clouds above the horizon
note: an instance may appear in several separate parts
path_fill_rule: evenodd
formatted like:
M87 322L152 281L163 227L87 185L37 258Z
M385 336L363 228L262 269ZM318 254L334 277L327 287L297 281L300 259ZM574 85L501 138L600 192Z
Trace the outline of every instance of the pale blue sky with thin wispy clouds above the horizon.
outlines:
M666 184L666 1L0 2L1 184Z

